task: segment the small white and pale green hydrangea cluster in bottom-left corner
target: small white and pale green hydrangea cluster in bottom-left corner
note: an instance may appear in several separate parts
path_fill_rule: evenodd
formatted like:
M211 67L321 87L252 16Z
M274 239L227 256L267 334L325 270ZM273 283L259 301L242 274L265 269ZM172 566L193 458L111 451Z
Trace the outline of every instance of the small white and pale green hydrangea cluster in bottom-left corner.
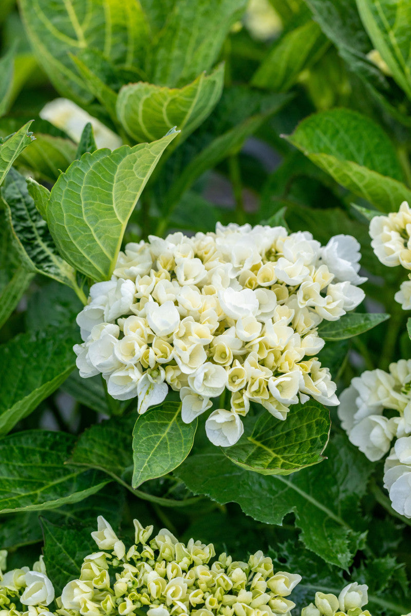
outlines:
M7 551L0 551L0 616L53 616L47 606L54 601L54 588L47 577L43 556L32 567L6 569ZM18 610L18 604L23 610ZM26 610L24 610L26 607Z

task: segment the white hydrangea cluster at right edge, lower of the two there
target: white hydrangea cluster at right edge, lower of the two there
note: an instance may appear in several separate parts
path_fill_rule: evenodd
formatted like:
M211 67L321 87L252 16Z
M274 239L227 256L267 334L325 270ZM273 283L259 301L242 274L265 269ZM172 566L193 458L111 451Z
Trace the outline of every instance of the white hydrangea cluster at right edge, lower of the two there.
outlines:
M352 444L371 461L389 452L384 486L393 509L411 517L411 359L391 363L389 372L365 371L340 400L338 416Z

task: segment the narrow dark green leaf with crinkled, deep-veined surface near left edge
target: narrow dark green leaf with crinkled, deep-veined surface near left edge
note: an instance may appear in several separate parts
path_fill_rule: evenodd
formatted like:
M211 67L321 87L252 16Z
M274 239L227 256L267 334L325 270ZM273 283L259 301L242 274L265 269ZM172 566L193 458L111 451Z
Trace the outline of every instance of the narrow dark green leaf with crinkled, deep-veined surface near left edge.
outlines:
M28 192L26 180L10 169L1 188L10 229L27 269L44 274L65 285L74 286L74 272L57 253L54 241Z

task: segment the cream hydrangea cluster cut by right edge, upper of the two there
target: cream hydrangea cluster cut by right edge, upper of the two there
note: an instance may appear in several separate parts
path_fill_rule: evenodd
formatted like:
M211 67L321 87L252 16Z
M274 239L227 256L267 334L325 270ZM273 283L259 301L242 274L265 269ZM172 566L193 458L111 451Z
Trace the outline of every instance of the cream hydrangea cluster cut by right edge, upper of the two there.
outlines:
M411 270L411 209L403 201L398 212L374 216L370 222L372 248L383 265L402 265ZM411 278L411 274L409 274ZM394 296L403 310L411 310L411 280L405 280Z

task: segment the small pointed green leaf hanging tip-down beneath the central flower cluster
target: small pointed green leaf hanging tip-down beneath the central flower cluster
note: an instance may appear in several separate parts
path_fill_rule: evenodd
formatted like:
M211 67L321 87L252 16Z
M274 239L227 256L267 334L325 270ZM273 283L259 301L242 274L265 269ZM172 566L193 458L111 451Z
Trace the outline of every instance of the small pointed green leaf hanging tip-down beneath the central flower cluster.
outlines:
M185 424L181 404L165 402L140 415L132 433L132 487L173 471L190 453L197 419Z

